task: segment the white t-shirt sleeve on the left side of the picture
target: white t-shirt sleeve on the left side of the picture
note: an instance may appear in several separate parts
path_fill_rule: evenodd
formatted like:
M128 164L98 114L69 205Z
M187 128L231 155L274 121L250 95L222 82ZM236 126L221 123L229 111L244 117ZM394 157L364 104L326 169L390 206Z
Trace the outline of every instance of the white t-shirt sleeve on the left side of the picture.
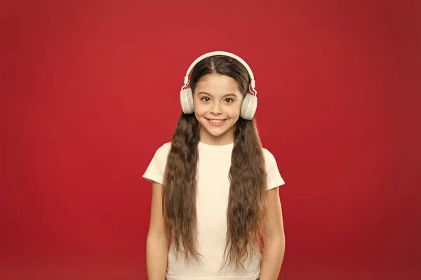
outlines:
M146 171L142 176L143 178L150 182L159 182L159 184L162 185L170 147L171 144L166 143L156 150L152 160L149 163L149 166L147 166Z

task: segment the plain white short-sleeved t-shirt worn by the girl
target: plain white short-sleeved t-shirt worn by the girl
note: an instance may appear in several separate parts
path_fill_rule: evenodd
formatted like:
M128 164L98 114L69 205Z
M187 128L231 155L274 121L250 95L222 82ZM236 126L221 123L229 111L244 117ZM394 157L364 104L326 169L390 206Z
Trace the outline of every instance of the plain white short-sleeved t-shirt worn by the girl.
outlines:
M168 252L168 280L255 280L260 274L260 258L251 256L244 264L245 270L234 265L222 267L227 234L227 206L229 194L229 168L234 143L222 146L199 142L196 215L200 264L185 262L184 255L175 258L173 248ZM145 174L149 181L162 184L171 142L156 150ZM267 168L267 189L283 185L274 156L263 149Z

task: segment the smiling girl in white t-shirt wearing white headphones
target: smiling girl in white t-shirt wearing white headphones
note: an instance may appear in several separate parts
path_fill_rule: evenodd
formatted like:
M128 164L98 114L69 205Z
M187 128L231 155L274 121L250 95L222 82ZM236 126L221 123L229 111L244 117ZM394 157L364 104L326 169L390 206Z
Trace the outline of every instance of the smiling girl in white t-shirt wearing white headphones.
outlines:
M207 53L189 67L173 140L143 175L152 182L149 280L278 278L284 182L260 143L249 86L256 93L253 72L232 53Z

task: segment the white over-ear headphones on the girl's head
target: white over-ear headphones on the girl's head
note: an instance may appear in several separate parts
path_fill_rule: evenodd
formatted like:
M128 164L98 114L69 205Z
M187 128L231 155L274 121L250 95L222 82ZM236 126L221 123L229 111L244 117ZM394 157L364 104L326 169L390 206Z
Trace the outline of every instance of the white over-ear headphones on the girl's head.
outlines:
M187 73L185 75L184 80L184 86L182 86L180 91L180 105L182 107L182 112L185 114L192 114L194 112L194 102L193 102L193 93L192 88L187 88L189 81L189 75L192 72L192 69L194 66L196 66L197 63L199 63L201 60L205 58L209 58L213 55L226 55L230 58L234 58L241 62L241 64L246 67L248 74L250 75L250 85L249 85L249 92L244 96L243 103L241 105L241 112L240 116L243 119L253 119L253 116L256 112L256 109L258 107L258 92L255 90L255 79L253 72L251 71L250 67L247 65L247 63L239 58L239 56L234 55L233 53L227 53L226 51L213 51L210 53L205 53L204 55L201 55L199 58L196 58L192 65L190 65L189 69L187 69Z

